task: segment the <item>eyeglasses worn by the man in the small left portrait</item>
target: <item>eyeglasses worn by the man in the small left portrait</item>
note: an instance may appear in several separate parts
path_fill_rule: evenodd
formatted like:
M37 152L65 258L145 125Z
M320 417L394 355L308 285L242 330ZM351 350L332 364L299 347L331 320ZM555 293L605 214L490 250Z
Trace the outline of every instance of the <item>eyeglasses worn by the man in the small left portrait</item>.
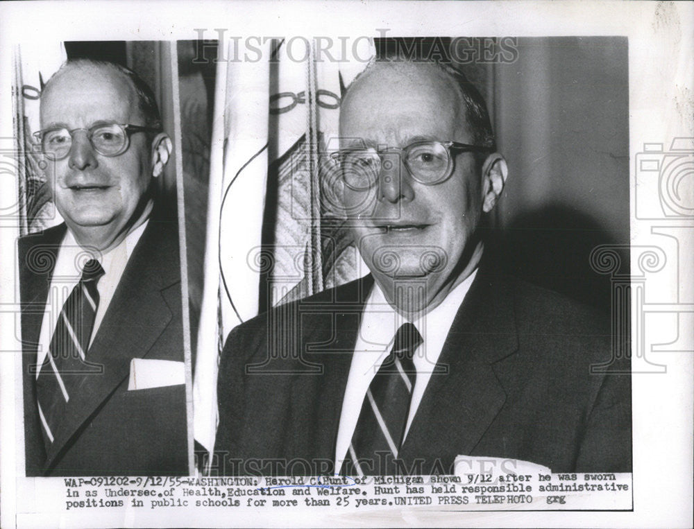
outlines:
M103 156L118 156L128 150L130 135L135 132L158 132L158 128L141 127L120 123L96 123L90 128L54 127L33 133L34 139L41 145L44 154L53 159L63 159L70 152L75 132L85 130L87 138L97 153Z

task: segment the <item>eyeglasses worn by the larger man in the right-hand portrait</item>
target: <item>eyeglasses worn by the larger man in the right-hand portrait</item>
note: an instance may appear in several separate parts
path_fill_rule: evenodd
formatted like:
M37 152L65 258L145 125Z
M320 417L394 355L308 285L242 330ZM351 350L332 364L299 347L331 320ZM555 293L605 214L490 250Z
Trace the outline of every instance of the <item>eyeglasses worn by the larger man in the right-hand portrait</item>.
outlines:
M341 169L345 184L355 191L375 186L382 168L389 170L393 160L384 155L393 151L403 153L403 161L412 178L427 186L448 180L453 172L452 151L459 153L490 151L491 147L460 144L457 141L415 141L405 148L350 148L332 153L330 157Z

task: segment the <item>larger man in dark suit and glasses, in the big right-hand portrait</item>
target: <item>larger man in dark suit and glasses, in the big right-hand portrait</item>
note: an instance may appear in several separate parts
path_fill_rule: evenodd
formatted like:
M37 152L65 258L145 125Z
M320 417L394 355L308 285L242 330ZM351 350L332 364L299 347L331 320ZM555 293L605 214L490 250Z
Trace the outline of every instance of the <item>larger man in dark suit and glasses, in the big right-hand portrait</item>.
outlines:
M220 471L452 473L457 456L630 471L609 325L484 255L507 164L464 76L373 62L343 99L334 160L371 275L230 333Z

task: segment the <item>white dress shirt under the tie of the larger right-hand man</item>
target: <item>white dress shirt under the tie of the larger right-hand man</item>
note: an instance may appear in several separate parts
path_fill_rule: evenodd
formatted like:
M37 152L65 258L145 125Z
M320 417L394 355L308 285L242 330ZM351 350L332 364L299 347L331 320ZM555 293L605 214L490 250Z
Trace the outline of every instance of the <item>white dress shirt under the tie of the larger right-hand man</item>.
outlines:
M434 366L439 360L443 342L448 337L453 319L468 293L475 275L477 275L477 270L451 290L439 306L412 322L421 334L423 342L416 349L412 358L417 375L409 405L405 437L407 437L409 426L412 424L424 390L432 376ZM406 322L407 320L387 302L378 284L374 283L369 300L364 306L362 324L359 327L359 335L342 401L337 445L335 446L335 469L341 467L342 460L349 448L359 413L362 410L366 390L369 389L371 380L390 353L396 332Z

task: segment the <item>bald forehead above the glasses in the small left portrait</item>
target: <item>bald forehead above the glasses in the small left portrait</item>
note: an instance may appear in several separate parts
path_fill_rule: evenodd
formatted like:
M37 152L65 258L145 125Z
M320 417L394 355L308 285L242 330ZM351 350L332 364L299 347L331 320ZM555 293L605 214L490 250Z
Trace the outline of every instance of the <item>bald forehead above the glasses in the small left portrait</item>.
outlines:
M42 128L86 127L95 121L133 123L140 115L127 78L105 67L74 67L53 78L41 96Z

